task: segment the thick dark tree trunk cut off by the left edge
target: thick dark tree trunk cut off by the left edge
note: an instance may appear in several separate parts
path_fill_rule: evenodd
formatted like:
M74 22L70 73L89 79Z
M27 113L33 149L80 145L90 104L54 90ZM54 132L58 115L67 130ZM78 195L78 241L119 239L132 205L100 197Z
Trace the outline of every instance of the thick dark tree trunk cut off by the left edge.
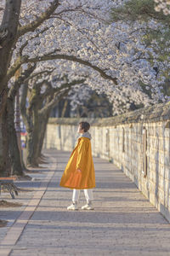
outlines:
M20 4L21 0L6 1L3 21L0 26L0 130L2 130L3 134L0 155L0 173L3 176L10 175L10 160L8 155L7 71L11 60L12 48L16 40Z

